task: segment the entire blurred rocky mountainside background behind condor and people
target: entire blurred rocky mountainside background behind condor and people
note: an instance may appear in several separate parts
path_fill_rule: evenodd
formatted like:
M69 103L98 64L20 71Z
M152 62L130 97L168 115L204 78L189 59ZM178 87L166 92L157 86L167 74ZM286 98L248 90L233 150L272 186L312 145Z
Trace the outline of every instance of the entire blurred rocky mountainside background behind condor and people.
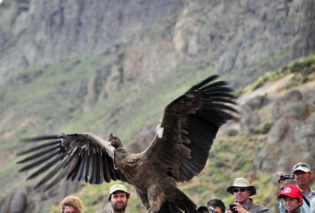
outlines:
M214 73L236 89L241 119L180 184L198 206L232 202L225 188L245 177L277 212L275 173L315 169L313 0L3 0L0 17L0 213L57 213L70 193L108 212L111 184L33 191L17 172L18 139L113 133L144 150L166 104ZM127 187L129 211L145 212Z

